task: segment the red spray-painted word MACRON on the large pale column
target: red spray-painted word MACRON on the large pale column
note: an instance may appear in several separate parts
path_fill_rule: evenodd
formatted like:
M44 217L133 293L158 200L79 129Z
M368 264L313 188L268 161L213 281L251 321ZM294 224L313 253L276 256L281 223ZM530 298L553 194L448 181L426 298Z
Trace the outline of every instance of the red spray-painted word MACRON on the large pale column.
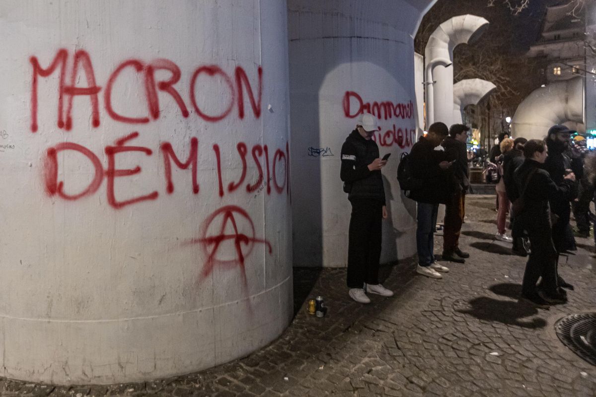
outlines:
M97 84L95 79L95 70L91 61L91 55L88 52L79 49L73 55L72 67L68 67L69 52L67 49L60 49L56 53L54 59L49 62L47 67L43 67L37 57L30 57L29 61L32 65L32 83L31 83L31 124L30 129L32 132L38 130L38 107L39 107L39 78L46 78L56 73L58 76L58 108L57 108L57 126L60 129L67 131L73 127L73 99L75 96L87 96L89 98L89 104L91 105L91 121L93 127L100 126L100 92L103 90L103 105L106 114L115 121L127 124L145 124L150 123L152 120L157 120L160 117L160 97L159 92L165 95L162 97L165 101L173 101L179 109L182 117L188 117L190 114L187 104L182 98L180 93L181 87L176 87L177 83L181 79L182 71L175 64L175 62L167 59L157 59L150 62L145 62L140 59L131 58L120 62L105 82L105 86ZM79 69L83 72L83 79L79 78ZM122 109L114 108L112 101L112 92L114 86L124 84L123 79L119 79L120 74L123 71L127 73L136 73L139 77L139 81L142 82L139 86L133 86L133 89L138 90L140 97L145 98L147 103L147 110L145 114L126 114ZM156 71L166 71L169 74L168 79L156 80ZM263 93L263 69L257 67L257 76L251 76L246 71L237 66L232 74L228 74L218 65L199 65L190 74L190 87L186 88L188 92L188 100L192 105L192 109L195 114L201 119L215 123L216 121L223 120L231 114L234 105L238 109L238 118L243 119L245 115L245 97L247 97L252 108L255 118L260 117L261 113L261 99ZM221 95L227 95L229 104L225 109L221 110L219 114L207 114L206 111L200 108L200 104L197 102L197 79L207 78L210 80L222 80L226 92L222 92ZM80 80L83 80L84 84L79 85ZM256 84L256 88L253 89L253 85ZM256 80L256 83L255 83ZM130 82L128 82L130 83ZM134 92L129 94L134 96ZM220 94L218 94L220 95ZM66 101L66 111L64 110L64 101ZM89 114L83 110L78 110L79 118L86 120Z

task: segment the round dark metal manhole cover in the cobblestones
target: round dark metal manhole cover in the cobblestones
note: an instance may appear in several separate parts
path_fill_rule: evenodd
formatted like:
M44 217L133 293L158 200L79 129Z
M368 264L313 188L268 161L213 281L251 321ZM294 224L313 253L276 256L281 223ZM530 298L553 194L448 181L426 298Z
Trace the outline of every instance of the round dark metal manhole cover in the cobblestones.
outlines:
M596 365L596 313L572 314L555 324L558 338L565 346Z

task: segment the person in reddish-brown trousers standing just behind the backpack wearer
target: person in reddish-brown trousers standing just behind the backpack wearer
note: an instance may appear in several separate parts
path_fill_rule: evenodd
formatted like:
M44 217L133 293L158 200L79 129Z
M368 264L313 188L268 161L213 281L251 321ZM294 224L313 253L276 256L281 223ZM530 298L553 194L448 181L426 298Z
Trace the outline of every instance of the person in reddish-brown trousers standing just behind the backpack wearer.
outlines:
M455 161L449 167L454 179L454 191L445 204L445 220L443 221L443 260L464 263L470 254L460 249L461 225L465 215L465 193L470 186L470 170L468 168L468 152L465 142L468 140L470 127L464 124L453 124L449 127L449 136L441 146L445 148L448 161Z

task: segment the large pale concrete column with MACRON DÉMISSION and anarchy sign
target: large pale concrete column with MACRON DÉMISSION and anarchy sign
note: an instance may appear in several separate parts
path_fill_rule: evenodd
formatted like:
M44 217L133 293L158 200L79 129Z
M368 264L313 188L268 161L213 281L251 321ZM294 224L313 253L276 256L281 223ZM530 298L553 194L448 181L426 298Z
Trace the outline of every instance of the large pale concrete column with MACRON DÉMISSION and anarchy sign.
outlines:
M293 306L286 12L0 4L2 376L132 382L280 335Z

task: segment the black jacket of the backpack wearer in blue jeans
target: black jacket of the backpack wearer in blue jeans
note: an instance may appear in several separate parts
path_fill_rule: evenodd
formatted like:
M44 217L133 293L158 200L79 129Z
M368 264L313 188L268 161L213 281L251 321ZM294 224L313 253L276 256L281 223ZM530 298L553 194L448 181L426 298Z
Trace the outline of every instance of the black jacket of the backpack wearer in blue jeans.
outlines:
M455 183L449 171L439 167L439 163L445 160L447 160L445 151L434 150L433 143L424 137L412 146L408 157L412 176L424 180L424 185L421 189L412 190L409 198L429 204L449 202Z

